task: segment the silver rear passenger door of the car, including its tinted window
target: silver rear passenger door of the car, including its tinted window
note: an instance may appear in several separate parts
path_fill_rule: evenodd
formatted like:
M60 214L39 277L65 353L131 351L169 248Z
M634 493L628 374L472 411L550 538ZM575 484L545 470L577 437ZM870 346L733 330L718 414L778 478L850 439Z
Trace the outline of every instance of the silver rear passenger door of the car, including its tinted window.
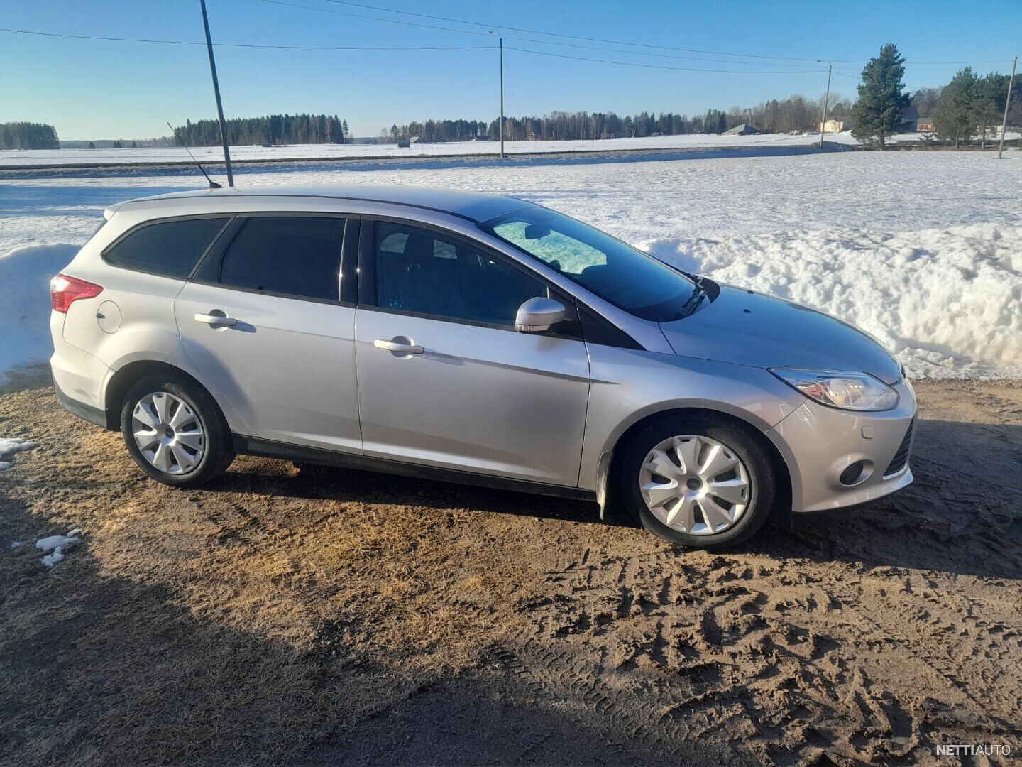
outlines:
M250 436L361 451L355 285L341 270L347 242L354 277L357 230L357 217L238 217L178 295L185 351Z

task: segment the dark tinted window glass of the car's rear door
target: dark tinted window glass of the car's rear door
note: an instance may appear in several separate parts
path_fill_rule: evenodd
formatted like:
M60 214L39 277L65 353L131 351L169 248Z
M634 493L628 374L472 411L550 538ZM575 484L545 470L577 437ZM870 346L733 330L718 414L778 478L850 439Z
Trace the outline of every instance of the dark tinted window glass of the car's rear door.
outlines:
M343 237L343 219L250 218L224 254L220 282L336 301Z

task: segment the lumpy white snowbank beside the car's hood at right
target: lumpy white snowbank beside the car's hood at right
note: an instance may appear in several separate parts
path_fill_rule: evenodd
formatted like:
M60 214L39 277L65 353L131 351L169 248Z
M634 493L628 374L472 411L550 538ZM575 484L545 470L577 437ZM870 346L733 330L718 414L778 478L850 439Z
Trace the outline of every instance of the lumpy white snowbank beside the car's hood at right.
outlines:
M657 258L858 325L917 377L1022 377L1022 226L661 238Z

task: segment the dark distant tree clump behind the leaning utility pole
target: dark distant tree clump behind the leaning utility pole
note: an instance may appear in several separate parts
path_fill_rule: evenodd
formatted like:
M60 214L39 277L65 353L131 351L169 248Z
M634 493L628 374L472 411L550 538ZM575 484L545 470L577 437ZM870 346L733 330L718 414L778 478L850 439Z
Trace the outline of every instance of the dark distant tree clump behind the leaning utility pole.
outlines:
M186 121L175 129L188 146L218 146L220 122ZM336 115L271 115L263 118L235 118L227 121L230 144L342 144L347 121Z

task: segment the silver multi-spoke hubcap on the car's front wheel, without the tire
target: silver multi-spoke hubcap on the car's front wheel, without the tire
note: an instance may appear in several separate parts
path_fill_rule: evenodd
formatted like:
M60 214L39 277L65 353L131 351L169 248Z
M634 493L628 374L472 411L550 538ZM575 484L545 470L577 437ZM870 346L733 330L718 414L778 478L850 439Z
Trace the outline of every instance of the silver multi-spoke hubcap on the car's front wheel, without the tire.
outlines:
M726 445L698 435L664 440L639 471L643 500L653 515L689 535L723 533L749 503L745 464Z

